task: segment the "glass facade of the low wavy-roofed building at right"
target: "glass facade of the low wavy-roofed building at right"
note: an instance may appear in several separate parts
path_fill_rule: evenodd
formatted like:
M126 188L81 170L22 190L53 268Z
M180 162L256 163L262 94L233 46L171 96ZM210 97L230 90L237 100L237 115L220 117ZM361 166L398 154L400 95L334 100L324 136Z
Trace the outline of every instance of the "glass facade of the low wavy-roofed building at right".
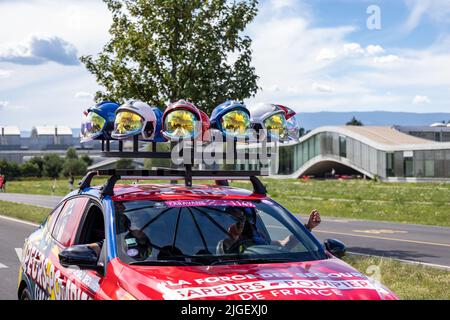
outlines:
M272 174L300 175L318 156L348 163L362 173L383 179L450 178L450 149L386 152L337 132L321 132L297 144L280 145L278 165Z

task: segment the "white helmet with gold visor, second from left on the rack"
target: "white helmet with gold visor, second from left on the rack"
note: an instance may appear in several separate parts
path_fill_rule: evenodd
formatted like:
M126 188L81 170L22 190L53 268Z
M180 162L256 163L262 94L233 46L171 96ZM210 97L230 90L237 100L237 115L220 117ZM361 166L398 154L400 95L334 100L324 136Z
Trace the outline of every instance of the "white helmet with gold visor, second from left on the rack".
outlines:
M158 117L158 111L158 108L152 108L139 100L125 102L116 111L111 136L123 140L140 134L142 139L153 140L155 133L159 135L157 130L161 130L161 117Z

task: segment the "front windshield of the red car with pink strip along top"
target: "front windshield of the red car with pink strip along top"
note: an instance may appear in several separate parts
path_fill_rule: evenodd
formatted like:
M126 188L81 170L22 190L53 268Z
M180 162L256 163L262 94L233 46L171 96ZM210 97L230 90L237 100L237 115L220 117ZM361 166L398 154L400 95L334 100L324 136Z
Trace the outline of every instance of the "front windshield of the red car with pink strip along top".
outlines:
M117 254L136 265L219 265L326 259L270 200L115 202Z

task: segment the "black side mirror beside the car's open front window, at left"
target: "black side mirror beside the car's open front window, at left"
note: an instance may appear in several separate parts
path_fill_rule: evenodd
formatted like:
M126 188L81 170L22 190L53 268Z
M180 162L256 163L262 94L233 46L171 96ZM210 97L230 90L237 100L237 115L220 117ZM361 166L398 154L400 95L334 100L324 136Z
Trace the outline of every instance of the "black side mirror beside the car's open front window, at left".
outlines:
M59 262L65 268L97 269L98 254L89 245L75 245L59 253Z

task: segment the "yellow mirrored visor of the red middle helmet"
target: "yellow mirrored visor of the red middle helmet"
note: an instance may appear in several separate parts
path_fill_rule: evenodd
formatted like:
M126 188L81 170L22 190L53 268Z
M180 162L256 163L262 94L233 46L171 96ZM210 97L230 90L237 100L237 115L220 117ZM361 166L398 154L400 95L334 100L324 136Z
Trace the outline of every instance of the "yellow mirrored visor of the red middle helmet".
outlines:
M187 110L174 110L167 114L164 133L169 138L190 139L196 136L197 117Z

